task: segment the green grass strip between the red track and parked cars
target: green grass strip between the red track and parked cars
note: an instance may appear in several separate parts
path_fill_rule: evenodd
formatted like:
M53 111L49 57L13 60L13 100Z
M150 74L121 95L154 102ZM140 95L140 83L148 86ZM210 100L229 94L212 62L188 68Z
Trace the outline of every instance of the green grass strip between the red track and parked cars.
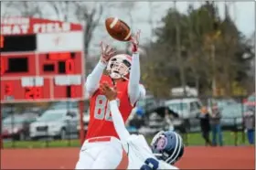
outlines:
M150 143L152 137L146 137ZM201 133L188 133L183 135L186 145L204 145L205 142L201 137ZM245 142L243 142L245 141ZM235 133L223 132L224 145L235 145ZM248 145L244 133L237 133L237 144ZM79 147L79 139L71 140L54 140L54 141L5 141L4 148L45 148L45 147Z

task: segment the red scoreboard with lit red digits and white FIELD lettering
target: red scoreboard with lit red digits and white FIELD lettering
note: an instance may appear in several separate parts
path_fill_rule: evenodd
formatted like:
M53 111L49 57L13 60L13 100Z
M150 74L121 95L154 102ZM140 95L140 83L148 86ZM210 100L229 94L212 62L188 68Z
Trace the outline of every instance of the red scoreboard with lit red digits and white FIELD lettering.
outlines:
M1 19L1 103L84 100L83 31L47 19Z

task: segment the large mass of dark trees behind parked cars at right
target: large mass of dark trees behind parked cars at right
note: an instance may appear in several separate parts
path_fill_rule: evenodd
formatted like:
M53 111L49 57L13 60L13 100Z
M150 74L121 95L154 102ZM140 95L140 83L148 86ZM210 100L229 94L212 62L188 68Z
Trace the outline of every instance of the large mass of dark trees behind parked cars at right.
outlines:
M225 18L220 19L213 2L206 2L197 9L189 5L187 14L169 9L162 20L164 26L155 30L157 40L143 66L146 74L150 73L144 76L150 90L156 95L168 95L166 90L184 86L184 82L196 86L201 94L214 94L220 88L225 95L232 95L234 82L246 88L242 81L248 79L251 57L244 59L243 56L253 53L229 17L228 6L226 11ZM180 51L180 58L177 51ZM185 71L183 76L182 70ZM186 80L181 79L184 76ZM156 87L161 91L154 90Z

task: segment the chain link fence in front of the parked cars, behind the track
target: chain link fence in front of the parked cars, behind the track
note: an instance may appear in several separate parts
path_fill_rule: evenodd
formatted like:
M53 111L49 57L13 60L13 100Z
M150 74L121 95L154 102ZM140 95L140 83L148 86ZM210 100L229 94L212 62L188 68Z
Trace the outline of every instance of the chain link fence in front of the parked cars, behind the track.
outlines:
M151 141L155 133L168 130L170 124L166 122L165 112L161 107L171 109L172 128L181 133L186 145L205 145L202 137L200 118L202 106L206 106L211 112L217 106L221 114L220 132L223 145L248 144L246 128L244 127L244 113L251 108L244 103L246 97L232 98L172 98L168 100L147 99L139 104L145 111L143 119L136 121L136 111L133 118L127 122L127 128L131 133L142 133ZM155 101L155 105L153 102ZM47 105L47 107L46 107ZM89 101L84 102L84 130L86 132L90 120ZM154 107L153 107L154 106ZM150 108L151 107L151 108ZM23 108L23 109L22 109ZM150 108L150 109L148 109ZM19 147L73 147L80 146L80 111L78 102L55 102L42 106L22 104L2 105L2 129L1 135L4 148ZM254 116L255 113L253 112ZM132 128L133 127L133 128ZM208 131L212 139L211 129Z

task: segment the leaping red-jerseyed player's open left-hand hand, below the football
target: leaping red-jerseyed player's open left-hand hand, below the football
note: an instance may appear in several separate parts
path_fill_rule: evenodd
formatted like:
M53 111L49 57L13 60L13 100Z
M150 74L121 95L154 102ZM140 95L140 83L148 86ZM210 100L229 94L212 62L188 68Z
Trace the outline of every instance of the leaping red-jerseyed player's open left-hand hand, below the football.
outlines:
M112 48L108 44L104 44L101 41L101 62L104 64L107 64L110 60L115 55L116 51L114 48Z

